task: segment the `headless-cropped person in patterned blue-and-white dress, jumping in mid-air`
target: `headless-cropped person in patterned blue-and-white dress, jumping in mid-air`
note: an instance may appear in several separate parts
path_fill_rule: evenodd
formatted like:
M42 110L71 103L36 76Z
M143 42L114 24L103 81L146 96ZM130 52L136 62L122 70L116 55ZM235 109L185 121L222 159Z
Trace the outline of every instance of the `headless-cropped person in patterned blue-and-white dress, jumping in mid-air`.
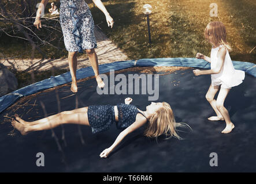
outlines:
M49 0L42 0L34 25L39 29L42 28L40 16ZM110 17L101 0L92 0L95 5L105 14L108 26L113 26L113 18ZM86 53L89 57L92 69L94 70L95 78L98 87L104 87L105 84L99 76L98 57L94 50L97 48L96 39L94 36L94 20L92 19L91 11L84 0L61 0L60 6L60 23L64 36L64 43L68 53L69 70L71 71L72 83L71 91L77 92L76 84L76 68L77 68L77 51ZM40 29L39 29L40 30Z

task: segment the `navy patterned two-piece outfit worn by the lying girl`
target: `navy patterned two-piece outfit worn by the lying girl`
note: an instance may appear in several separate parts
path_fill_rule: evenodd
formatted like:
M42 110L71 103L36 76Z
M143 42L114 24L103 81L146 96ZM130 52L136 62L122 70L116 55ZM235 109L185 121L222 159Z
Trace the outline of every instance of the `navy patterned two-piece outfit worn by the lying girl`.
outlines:
M118 122L114 116L114 106L112 105L92 105L88 107L88 121L92 129L92 133L106 131L116 122L117 129L125 129L136 120L139 112L134 105L120 104L117 105ZM144 114L142 114L144 116Z

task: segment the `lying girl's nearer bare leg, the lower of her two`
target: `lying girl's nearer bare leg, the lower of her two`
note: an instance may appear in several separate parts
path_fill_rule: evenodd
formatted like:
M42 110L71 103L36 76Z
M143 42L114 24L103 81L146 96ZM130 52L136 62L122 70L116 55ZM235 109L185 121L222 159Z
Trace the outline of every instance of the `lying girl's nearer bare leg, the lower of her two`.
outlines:
M20 131L22 135L26 135L33 131L52 129L61 124L80 124L90 126L87 113L79 111L76 113L58 113L41 120L37 120L37 122L35 121L33 123L34 125L24 125L16 120L12 121L13 127Z

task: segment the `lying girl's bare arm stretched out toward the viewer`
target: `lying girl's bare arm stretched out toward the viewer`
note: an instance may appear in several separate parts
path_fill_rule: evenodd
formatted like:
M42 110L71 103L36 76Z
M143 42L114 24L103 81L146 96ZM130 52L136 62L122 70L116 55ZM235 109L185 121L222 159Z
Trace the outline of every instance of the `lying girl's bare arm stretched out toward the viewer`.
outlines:
M139 127L142 127L142 125L145 124L146 122L147 122L146 118L142 116L142 114L138 114L136 117L136 121L133 122L133 124L131 124L126 129L124 129L124 131L117 136L117 139L114 141L114 143L109 148L106 148L105 150L103 150L99 156L101 156L101 158L106 158L110 154L110 152L112 152L114 148L116 148L117 145L121 143L121 141L124 139L125 136L135 131Z

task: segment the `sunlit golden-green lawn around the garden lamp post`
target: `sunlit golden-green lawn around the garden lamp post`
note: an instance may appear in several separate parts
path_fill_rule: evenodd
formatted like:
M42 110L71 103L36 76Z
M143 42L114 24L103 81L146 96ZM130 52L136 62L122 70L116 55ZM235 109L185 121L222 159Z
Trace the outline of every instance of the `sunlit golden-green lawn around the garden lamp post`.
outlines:
M218 5L218 17L210 17L212 1L107 1L106 9L114 18L114 28L106 26L105 17L90 4L95 24L127 53L129 59L151 57L194 57L196 52L210 55L211 45L204 40L203 32L210 21L222 21L228 30L228 41L233 51L232 60L255 61L256 46L255 1L214 1ZM142 6L153 7L150 14L151 40L147 43L146 16ZM244 28L242 27L242 23Z

